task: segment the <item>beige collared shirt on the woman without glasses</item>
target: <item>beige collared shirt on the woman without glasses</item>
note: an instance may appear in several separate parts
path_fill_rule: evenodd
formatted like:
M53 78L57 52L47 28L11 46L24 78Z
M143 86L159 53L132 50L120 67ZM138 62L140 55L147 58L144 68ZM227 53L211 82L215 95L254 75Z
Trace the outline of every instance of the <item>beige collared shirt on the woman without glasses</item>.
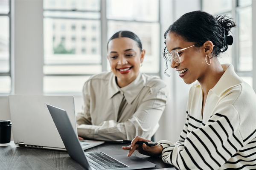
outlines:
M166 84L140 73L119 88L112 72L94 75L83 88L83 112L76 116L78 135L87 139L151 139L168 99Z

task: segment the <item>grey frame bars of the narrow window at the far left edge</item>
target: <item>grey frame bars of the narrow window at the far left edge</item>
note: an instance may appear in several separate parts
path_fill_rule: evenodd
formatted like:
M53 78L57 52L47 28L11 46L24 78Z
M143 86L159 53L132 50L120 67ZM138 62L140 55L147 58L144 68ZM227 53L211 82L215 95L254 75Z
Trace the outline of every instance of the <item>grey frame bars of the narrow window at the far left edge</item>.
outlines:
M12 20L11 20L11 6L12 6L12 0L9 0L9 13L8 14L3 14L3 13L0 13L0 16L7 16L9 17L9 72L7 73L3 73L3 72L0 72L0 76L9 76L11 78L11 91L9 93L0 93L0 94L11 94L12 93L12 57L11 57L11 40L12 40L12 37L11 37L11 32L12 32Z

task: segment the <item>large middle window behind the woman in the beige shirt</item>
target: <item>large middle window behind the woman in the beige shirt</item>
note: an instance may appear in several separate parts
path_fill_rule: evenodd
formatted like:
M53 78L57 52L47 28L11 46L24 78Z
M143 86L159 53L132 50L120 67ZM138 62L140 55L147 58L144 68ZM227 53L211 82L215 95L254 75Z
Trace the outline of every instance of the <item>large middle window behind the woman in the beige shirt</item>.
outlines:
M160 77L159 0L43 2L44 93L81 93L91 75L110 71L107 39L120 30L140 37L146 50L140 70Z

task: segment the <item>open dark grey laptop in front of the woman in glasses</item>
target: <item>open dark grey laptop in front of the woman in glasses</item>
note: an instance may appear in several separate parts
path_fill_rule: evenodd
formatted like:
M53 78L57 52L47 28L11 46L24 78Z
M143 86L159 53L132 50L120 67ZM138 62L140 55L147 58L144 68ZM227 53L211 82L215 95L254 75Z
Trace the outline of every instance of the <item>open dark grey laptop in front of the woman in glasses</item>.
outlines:
M132 155L128 157L128 152L125 150L84 153L67 112L52 105L47 105L47 108L67 148L67 153L87 170L134 170L156 167L156 164L137 156Z

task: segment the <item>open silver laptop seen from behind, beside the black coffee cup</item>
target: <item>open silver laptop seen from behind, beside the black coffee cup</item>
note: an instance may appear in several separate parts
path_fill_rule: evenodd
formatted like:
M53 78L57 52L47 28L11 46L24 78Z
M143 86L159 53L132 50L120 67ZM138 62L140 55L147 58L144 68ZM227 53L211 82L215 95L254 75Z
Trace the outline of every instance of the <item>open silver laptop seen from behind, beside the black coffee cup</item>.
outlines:
M77 135L73 96L9 95L12 131L16 145L66 150L46 104L65 108ZM104 142L89 140L80 142L83 150L102 143Z

